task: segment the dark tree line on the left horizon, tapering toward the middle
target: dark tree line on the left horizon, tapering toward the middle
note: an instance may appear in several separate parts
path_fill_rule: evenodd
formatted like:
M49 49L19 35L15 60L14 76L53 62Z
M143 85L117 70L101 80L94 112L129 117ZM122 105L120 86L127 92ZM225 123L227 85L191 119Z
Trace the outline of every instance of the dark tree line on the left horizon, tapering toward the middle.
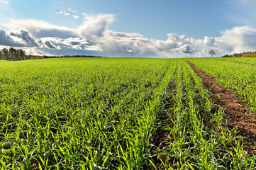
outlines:
M94 55L63 55L63 56L48 56L48 55L26 55L26 51L18 49L16 50L13 47L10 47L9 50L4 48L0 50L0 60L35 60L43 58L57 58L57 57L101 57Z

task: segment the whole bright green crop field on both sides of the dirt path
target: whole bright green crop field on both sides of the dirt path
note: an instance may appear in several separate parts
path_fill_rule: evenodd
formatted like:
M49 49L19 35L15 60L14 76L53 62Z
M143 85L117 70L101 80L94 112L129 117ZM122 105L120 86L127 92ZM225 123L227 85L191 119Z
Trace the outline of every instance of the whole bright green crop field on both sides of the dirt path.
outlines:
M186 60L256 113L255 59ZM186 60L0 62L0 168L256 169Z

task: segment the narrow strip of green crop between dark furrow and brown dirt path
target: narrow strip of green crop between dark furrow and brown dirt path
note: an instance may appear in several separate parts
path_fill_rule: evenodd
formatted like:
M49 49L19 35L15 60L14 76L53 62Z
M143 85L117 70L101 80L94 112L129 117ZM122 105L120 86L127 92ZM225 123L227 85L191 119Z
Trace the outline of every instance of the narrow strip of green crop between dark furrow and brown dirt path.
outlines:
M243 150L236 130L227 128L223 110L214 111L209 91L187 63L179 61L174 80L164 168L255 169L255 157Z

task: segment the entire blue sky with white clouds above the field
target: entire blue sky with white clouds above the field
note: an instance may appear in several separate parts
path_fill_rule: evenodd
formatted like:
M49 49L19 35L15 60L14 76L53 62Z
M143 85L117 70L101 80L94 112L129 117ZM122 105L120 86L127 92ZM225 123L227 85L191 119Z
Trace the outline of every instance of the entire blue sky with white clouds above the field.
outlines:
M216 57L256 50L255 0L0 0L0 49Z

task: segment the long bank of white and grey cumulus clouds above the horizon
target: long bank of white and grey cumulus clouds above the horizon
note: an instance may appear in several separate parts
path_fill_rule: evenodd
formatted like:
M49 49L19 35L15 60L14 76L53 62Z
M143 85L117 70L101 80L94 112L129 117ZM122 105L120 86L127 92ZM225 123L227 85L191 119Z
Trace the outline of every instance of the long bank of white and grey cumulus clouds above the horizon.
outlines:
M132 57L204 57L211 49L220 56L256 49L256 28L250 26L223 30L216 38L206 36L195 40L169 33L166 40L155 40L139 33L109 30L114 20L111 14L84 13L84 22L76 29L45 21L10 21L6 28L18 31L0 30L0 45L27 47L27 50L30 47L30 52L37 54Z

